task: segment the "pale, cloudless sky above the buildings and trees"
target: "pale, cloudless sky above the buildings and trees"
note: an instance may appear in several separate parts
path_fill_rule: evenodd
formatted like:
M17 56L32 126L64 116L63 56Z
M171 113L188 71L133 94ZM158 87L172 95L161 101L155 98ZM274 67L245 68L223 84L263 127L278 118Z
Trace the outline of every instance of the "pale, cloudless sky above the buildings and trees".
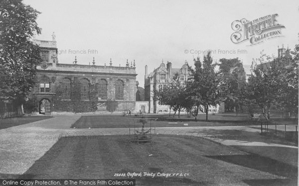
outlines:
M299 42L298 0L24 0L40 11L39 40L55 32L59 63L125 66L136 62L137 80L144 87L149 72L162 60L180 68L185 61L239 58L250 65L260 52L277 56L278 46L294 49ZM277 13L283 37L249 46L231 41L235 20L254 20ZM199 53L199 54L198 54Z

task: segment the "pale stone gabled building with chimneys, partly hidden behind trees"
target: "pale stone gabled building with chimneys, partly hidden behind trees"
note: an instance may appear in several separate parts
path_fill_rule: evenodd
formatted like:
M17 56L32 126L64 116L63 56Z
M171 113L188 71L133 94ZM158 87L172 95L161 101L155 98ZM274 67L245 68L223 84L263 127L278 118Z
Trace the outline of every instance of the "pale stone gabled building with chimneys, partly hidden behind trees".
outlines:
M173 81L173 76L178 73L179 80L185 82L190 75L187 62L181 68L172 68L172 63L164 62L159 67L148 73L148 65L145 66L145 100L149 101L149 113L168 113L169 107L160 105L153 100L153 90L159 90Z

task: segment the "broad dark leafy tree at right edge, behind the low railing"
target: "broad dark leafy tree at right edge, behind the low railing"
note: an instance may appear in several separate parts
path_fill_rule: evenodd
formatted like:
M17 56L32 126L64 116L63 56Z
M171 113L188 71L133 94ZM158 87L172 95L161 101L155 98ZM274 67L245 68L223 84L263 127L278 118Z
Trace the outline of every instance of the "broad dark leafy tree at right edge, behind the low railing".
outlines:
M258 64L259 63L259 64ZM298 60L271 58L263 52L253 61L250 98L259 105L264 118L270 121L270 110L298 110ZM296 100L296 101L294 101Z

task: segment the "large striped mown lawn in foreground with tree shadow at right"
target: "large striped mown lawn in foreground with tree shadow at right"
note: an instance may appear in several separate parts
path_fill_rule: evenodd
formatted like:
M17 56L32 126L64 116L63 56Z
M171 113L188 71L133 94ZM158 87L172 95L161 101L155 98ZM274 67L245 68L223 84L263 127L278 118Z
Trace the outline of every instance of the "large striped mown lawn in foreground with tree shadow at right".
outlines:
M20 178L128 179L128 173L142 173L132 177L137 186L275 186L297 185L297 172L290 164L200 137L154 135L150 146L122 135L61 138Z

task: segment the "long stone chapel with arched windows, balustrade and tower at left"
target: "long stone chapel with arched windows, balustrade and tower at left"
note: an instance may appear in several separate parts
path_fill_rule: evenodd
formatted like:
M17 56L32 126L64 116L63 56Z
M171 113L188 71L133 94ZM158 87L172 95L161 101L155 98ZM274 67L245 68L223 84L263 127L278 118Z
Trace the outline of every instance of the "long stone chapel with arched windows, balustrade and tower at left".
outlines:
M43 62L36 67L36 83L29 99L38 112L127 112L135 109L136 71L125 66L58 63L56 41L35 40Z

